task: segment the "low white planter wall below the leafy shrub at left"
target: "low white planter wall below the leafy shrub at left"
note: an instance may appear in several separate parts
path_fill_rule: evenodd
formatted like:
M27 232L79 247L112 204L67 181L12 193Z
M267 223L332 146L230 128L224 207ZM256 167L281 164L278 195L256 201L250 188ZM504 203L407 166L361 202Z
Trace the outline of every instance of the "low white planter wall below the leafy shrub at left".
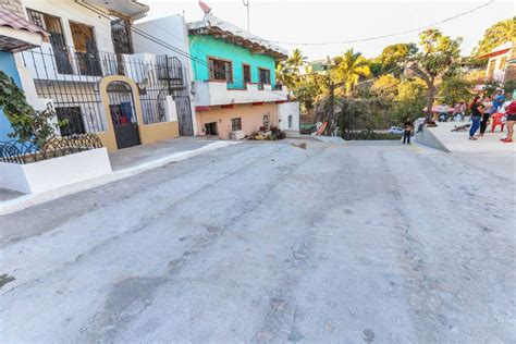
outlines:
M35 194L108 173L111 164L102 147L27 164L0 162L0 187Z

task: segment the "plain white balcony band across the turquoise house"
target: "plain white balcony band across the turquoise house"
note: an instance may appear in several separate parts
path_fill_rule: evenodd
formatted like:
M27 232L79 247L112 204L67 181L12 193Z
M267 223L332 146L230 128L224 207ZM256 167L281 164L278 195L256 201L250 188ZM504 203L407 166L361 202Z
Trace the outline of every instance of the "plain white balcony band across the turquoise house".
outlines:
M195 82L197 107L285 101L286 86L246 83L245 88L231 88L225 82Z

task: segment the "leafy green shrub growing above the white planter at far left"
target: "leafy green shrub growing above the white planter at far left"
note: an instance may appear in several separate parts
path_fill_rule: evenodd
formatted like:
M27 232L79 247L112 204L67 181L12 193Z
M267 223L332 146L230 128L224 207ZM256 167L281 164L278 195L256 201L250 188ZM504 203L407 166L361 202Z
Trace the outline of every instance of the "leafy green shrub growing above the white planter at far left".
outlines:
M12 77L0 71L0 107L13 128L9 137L19 142L33 142L44 146L54 134L51 121L56 112L48 107L44 111L34 110L26 101L25 94L16 86Z

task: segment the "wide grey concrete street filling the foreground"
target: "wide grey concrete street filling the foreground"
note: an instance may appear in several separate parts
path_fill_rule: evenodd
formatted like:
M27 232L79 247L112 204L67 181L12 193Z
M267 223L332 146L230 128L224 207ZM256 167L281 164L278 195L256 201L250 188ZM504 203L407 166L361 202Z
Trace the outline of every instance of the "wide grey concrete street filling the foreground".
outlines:
M243 143L0 217L0 341L509 343L514 155Z

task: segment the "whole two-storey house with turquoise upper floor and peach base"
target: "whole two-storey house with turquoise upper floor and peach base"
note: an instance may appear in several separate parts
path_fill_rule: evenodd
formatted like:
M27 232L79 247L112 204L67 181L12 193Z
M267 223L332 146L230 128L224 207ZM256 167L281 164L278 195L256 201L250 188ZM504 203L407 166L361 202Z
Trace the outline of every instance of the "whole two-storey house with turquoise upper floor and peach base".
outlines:
M199 135L243 138L282 126L298 132L298 103L288 102L274 75L286 50L211 14L187 29Z

